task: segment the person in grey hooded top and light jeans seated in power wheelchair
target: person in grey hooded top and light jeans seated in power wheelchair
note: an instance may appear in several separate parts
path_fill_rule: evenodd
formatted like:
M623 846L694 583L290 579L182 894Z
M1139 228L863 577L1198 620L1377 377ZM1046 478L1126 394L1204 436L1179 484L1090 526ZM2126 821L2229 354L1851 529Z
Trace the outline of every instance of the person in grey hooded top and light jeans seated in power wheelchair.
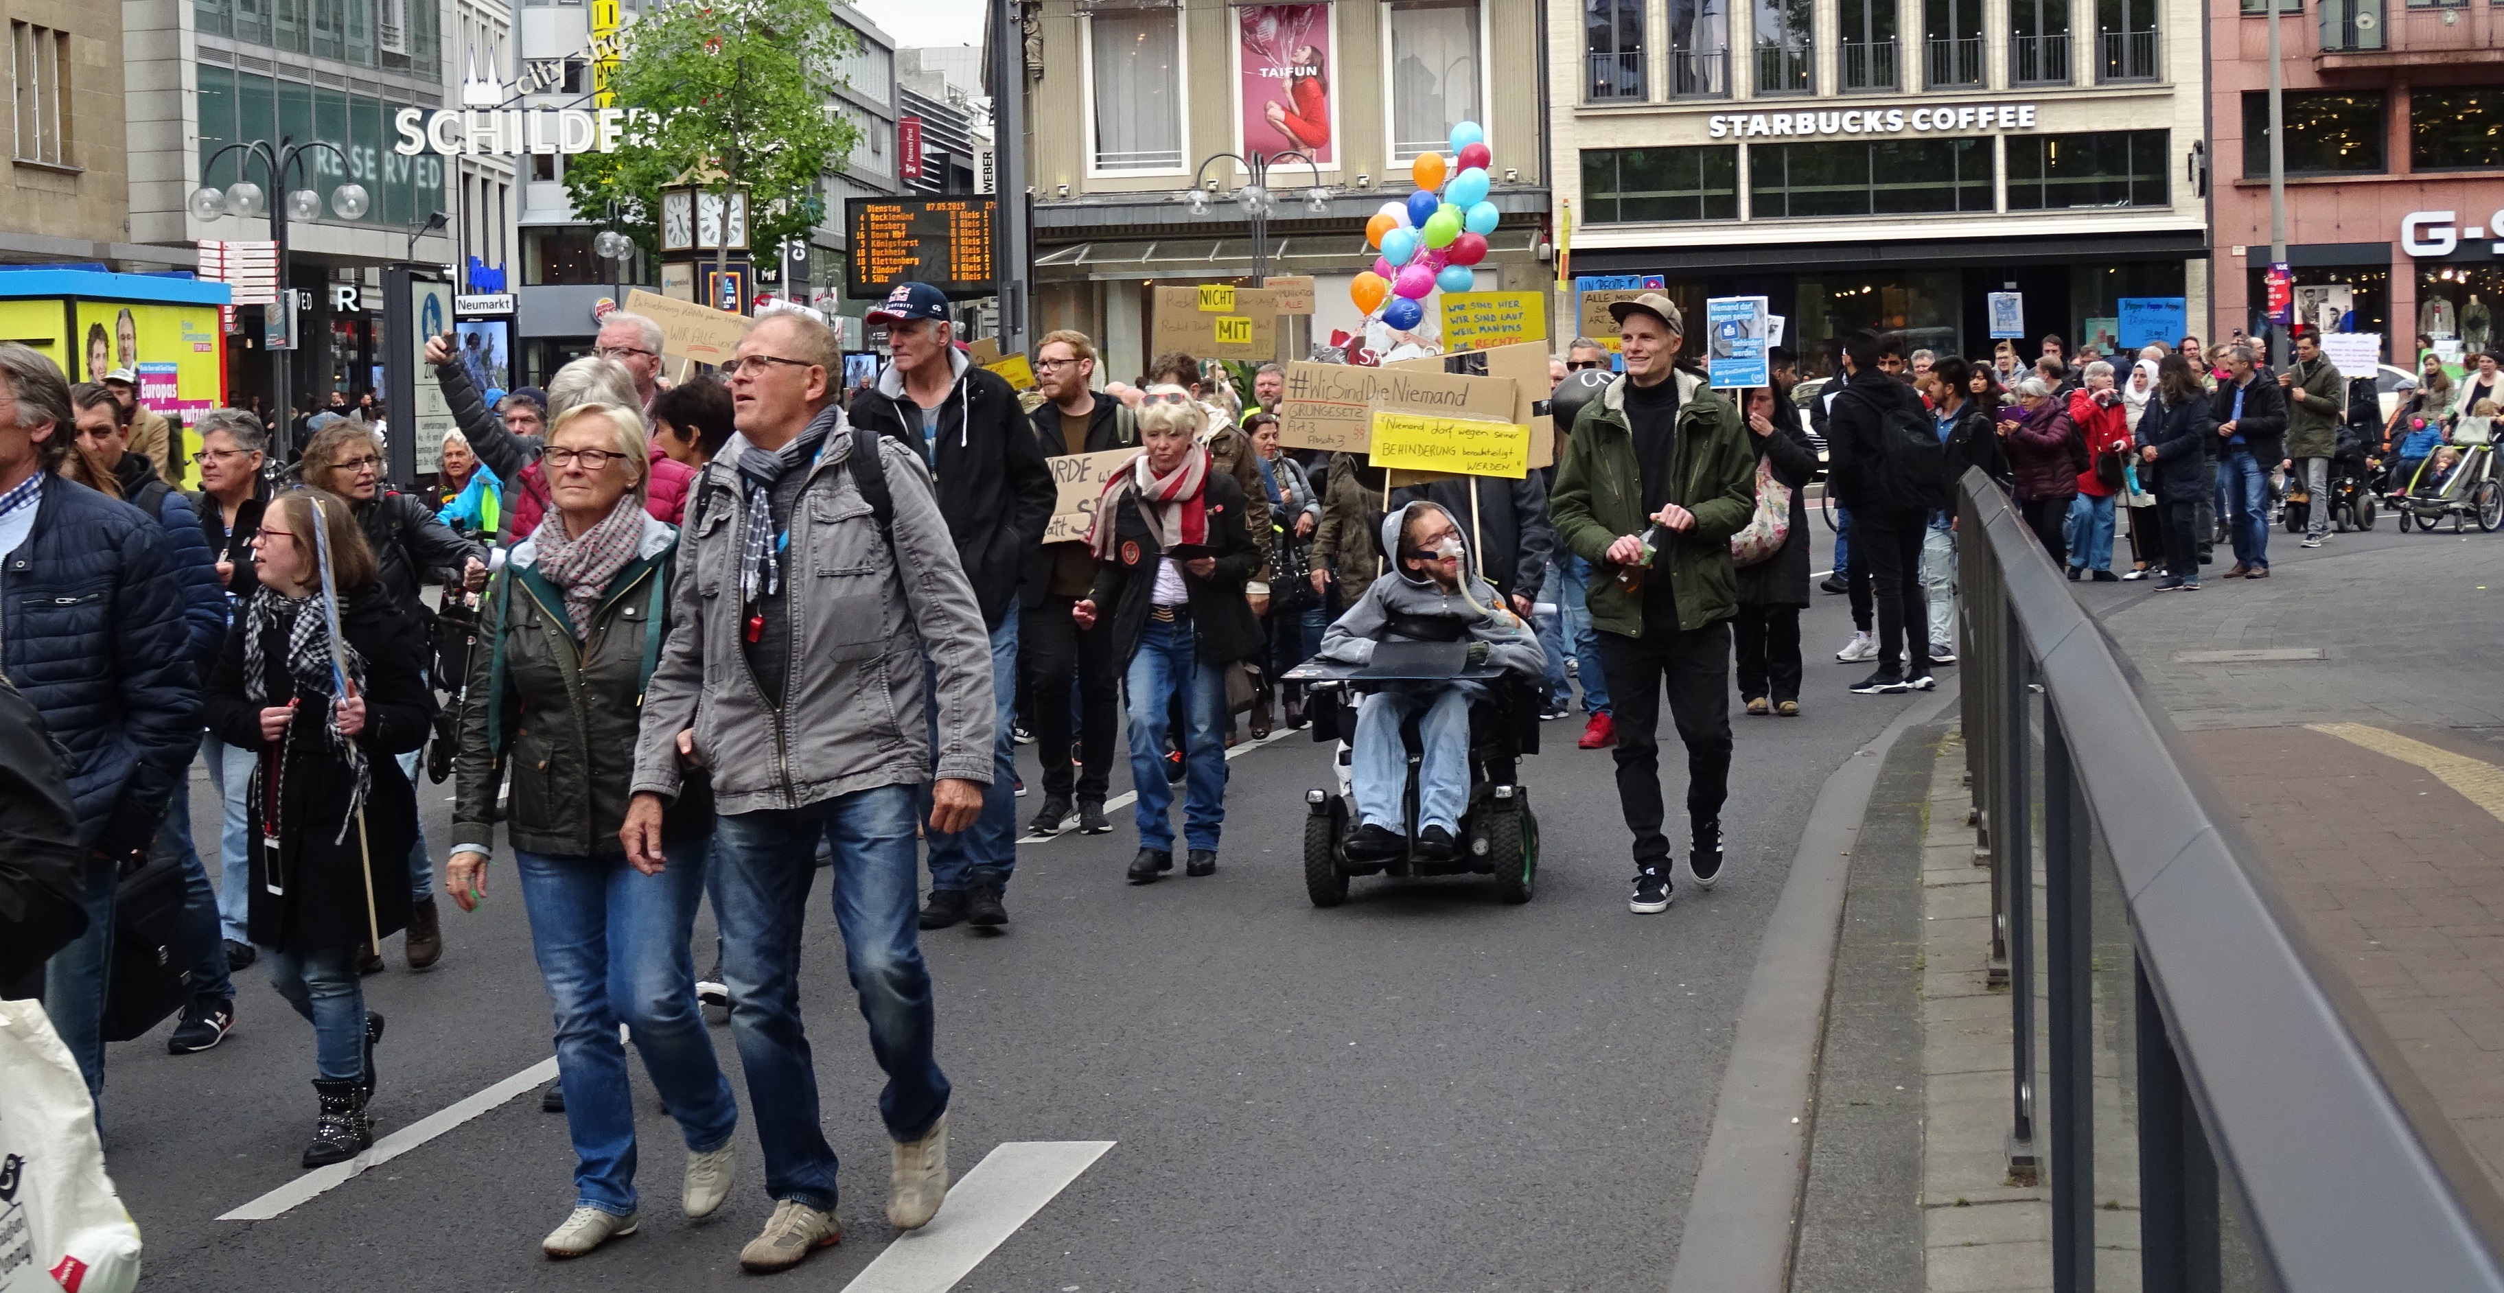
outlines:
M1395 509L1382 519L1382 551L1395 554L1392 576L1375 579L1322 634L1322 659L1367 667L1385 641L1467 641L1467 669L1542 677L1547 657L1537 631L1505 611L1495 586L1480 579L1450 511L1427 501ZM1347 842L1352 862L1402 852L1447 862L1457 854L1460 817L1470 802L1470 704L1485 697L1485 682L1402 679L1385 682L1357 704L1350 772L1360 827ZM1400 737L1412 714L1420 732L1415 849L1402 834L1407 742Z

